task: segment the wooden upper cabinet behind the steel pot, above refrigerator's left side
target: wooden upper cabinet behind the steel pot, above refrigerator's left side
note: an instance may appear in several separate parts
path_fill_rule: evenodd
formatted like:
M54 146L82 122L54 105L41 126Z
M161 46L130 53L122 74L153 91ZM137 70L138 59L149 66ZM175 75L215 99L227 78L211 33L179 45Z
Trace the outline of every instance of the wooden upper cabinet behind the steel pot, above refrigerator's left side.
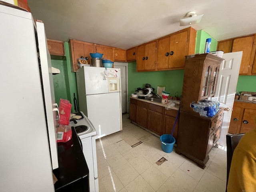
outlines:
M78 67L78 59L84 57L87 59L88 64L91 64L90 53L94 52L93 44L88 42L82 42L74 39L70 39L73 71L76 72Z

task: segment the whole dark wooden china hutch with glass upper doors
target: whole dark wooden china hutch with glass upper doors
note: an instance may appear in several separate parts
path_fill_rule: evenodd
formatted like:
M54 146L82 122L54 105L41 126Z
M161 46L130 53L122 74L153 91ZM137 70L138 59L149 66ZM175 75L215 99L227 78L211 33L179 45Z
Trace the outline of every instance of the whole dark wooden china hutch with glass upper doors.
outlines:
M209 152L220 138L223 110L213 117L200 116L191 102L214 96L222 58L196 54L186 58L176 153L184 154L205 168Z

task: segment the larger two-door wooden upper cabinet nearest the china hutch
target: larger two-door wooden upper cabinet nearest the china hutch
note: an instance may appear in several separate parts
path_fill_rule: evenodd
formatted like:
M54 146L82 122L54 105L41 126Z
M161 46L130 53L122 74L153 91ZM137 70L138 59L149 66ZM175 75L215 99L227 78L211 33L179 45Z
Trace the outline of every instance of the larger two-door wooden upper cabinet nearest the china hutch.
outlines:
M185 56L194 54L196 30L186 28L164 38L158 39L157 69L184 69Z

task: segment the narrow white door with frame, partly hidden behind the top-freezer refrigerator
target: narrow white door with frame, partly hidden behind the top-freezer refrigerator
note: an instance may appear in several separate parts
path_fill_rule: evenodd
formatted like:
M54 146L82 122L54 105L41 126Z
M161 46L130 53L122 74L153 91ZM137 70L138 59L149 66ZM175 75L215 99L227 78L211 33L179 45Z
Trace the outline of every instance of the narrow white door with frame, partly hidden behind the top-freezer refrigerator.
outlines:
M120 76L121 76L121 95L122 95L122 113L127 112L127 83L126 83L126 74L127 74L127 64L126 63L114 63L115 68L120 68Z

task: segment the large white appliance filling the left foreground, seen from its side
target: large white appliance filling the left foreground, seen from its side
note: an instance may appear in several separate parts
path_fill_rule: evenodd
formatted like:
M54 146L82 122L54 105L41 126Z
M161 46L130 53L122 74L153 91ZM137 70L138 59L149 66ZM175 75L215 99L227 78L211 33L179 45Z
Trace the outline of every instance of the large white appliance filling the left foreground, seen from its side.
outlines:
M0 5L1 191L54 192L56 112L44 24Z

